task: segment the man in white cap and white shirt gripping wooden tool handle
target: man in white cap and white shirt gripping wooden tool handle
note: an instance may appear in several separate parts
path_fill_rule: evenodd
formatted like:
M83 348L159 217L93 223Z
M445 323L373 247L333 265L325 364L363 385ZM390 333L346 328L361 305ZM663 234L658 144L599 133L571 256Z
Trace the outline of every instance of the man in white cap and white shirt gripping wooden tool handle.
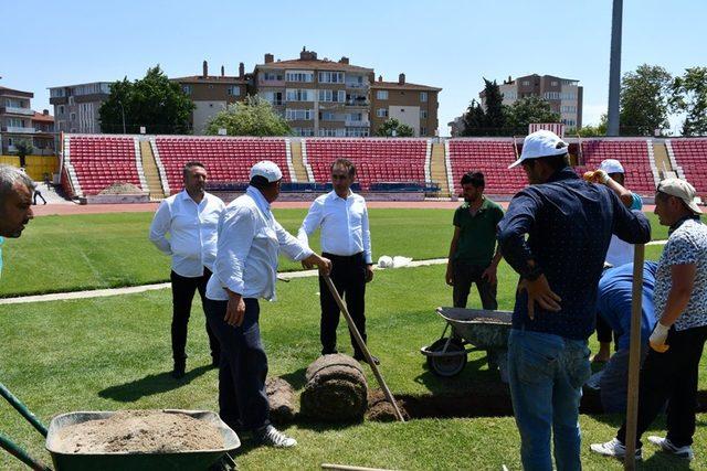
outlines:
M270 205L279 195L279 168L264 160L251 168L250 178L245 194L231 202L219 221L217 259L207 286L207 320L221 344L219 408L223 421L235 430L252 432L263 445L289 448L297 441L270 424L267 356L261 343L257 300L275 299L281 250L327 275L331 263L275 221Z

